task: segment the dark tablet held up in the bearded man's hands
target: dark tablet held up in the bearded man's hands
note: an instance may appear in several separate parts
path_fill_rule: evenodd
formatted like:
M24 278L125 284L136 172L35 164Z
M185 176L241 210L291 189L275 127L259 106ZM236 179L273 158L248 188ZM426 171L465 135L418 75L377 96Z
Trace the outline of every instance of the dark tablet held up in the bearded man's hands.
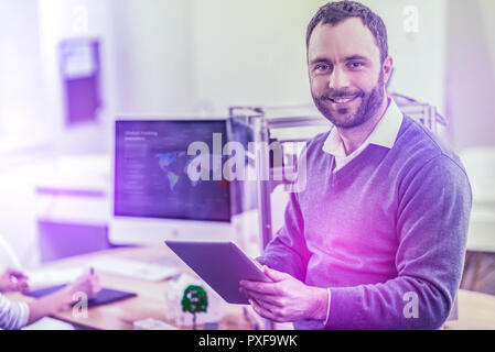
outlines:
M248 305L241 279L271 282L233 242L165 241L166 245L229 304Z

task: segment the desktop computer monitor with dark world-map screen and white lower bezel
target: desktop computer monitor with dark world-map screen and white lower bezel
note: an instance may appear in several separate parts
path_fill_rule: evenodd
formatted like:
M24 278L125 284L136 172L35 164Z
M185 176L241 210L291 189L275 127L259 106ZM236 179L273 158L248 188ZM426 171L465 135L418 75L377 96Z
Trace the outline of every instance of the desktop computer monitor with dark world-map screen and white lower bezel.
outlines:
M230 184L213 177L215 161L220 158L223 164L214 133L222 136L223 146L227 130L225 119L116 121L110 242L232 240ZM211 153L205 161L213 164L206 180L194 180L187 174L200 155L187 153L195 142L207 145Z

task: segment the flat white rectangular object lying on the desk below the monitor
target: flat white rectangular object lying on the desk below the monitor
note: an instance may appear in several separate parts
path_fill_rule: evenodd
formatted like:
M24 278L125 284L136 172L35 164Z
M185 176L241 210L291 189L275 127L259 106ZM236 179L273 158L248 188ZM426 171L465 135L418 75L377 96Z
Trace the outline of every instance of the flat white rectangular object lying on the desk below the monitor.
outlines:
M92 262L92 266L96 272L100 271L150 282L159 282L181 274L177 267L116 257L97 258Z

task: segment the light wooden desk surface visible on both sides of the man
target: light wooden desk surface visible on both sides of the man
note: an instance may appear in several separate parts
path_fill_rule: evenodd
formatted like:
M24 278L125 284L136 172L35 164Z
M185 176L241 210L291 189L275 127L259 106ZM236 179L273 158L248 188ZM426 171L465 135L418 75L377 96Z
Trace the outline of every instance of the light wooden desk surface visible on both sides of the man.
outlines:
M163 248L131 248L103 251L76 257L56 261L46 266L68 267L84 265L89 260L100 255L133 258L143 262L158 262L171 257L174 254L165 246ZM187 268L184 266L184 271ZM138 297L117 301L114 304L88 309L87 318L75 318L72 311L57 314L54 318L76 323L93 329L129 330L132 322L147 318L165 319L165 293L170 288L170 282L146 282L118 275L99 273L103 286L120 290L132 290ZM31 298L20 294L9 294L14 300L30 300ZM448 321L444 326L448 330L489 329L495 330L495 296L475 292L460 290L459 320ZM173 324L173 323L172 323ZM220 330L245 330L251 324L244 318L241 306L226 305L226 315L218 327ZM200 326L198 329L202 329Z

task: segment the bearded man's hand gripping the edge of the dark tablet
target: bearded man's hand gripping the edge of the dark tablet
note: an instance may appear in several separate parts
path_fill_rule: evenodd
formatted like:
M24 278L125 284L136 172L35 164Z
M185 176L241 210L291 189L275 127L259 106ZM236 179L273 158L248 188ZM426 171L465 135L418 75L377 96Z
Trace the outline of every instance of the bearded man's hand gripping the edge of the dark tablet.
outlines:
M326 318L326 289L306 286L268 266L263 272L272 283L241 280L239 288L257 314L277 322Z

